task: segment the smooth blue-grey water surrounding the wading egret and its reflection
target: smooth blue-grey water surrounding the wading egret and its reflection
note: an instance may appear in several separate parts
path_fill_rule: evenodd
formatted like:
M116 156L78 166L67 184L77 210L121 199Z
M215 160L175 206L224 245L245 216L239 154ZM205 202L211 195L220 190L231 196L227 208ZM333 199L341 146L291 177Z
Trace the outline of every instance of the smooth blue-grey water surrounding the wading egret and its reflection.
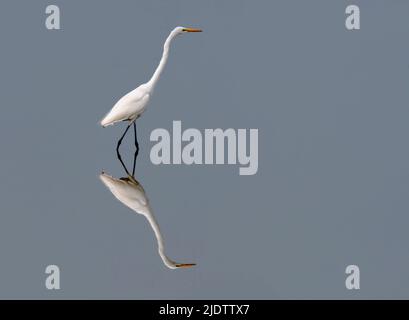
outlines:
M348 4L361 8L345 29ZM58 4L62 30L44 27ZM0 4L0 298L409 298L409 2L16 1ZM153 232L102 185L121 176L102 129L147 81L137 178ZM149 134L258 128L259 171L154 166ZM132 140L122 150L130 159ZM60 291L45 267L61 268ZM361 290L345 288L345 267Z

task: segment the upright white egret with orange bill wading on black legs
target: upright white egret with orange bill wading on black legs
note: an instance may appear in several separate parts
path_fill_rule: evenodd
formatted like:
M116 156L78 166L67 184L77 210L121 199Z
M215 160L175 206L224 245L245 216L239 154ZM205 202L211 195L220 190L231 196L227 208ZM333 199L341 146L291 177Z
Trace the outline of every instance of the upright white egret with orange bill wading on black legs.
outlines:
M185 28L185 27L176 27L172 30L172 32L167 37L165 44L163 45L163 54L162 58L159 62L158 67L156 68L152 78L144 83L141 84L136 89L132 90L131 92L127 93L123 96L119 101L113 106L111 111L101 120L101 125L103 127L112 125L118 121L129 121L129 125L126 127L125 132L121 136L117 144L117 153L119 146L122 143L124 136L126 135L129 127L131 124L134 125L134 135L135 135L135 146L136 146L136 153L139 151L139 146L136 137L136 126L135 120L138 119L141 114L145 111L146 106L149 102L149 99L152 95L152 92L155 88L156 83L159 80L159 77L166 65L169 56L169 49L172 40L180 34L188 33L188 32L201 32L200 29L194 28ZM121 161L122 162L122 161Z

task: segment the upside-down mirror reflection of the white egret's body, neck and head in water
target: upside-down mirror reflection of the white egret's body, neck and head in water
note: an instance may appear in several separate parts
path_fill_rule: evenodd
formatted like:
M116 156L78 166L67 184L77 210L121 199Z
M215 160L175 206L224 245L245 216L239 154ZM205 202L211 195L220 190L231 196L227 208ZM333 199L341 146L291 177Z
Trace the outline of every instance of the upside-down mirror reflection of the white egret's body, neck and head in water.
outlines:
M163 263L168 268L187 268L195 265L194 263L177 263L166 256L163 237L149 205L149 200L146 197L145 190L134 177L128 176L117 179L104 172L102 172L99 177L120 202L135 212L144 215L146 219L148 219L153 231L155 232L156 240L158 241L159 255L162 258Z

